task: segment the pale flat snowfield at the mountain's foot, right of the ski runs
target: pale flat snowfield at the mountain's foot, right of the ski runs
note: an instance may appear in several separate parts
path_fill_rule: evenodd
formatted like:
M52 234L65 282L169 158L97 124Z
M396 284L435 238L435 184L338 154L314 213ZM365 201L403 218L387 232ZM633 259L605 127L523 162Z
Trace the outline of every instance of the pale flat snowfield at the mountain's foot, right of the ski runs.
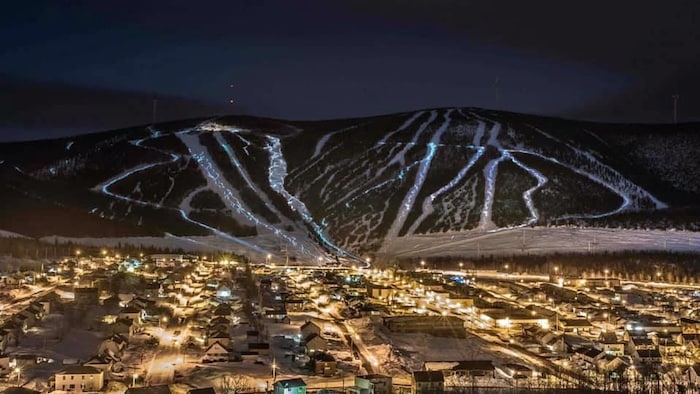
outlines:
M536 227L501 231L468 231L399 237L385 256L480 256L548 254L557 251L600 252L656 250L700 253L700 233L663 230L621 230Z

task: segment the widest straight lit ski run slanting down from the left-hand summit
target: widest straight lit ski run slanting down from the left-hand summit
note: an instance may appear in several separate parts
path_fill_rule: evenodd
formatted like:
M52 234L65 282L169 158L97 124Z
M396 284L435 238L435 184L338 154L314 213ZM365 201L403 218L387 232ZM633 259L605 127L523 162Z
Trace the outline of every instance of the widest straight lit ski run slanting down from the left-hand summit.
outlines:
M256 226L260 226L261 228L270 231L271 233L275 234L275 236L289 242L291 245L295 247L301 246L295 237L292 237L280 231L278 228L268 224L267 222L258 219L245 207L241 200L234 194L233 190L235 189L231 187L224 176L221 175L219 168L209 156L209 152L199 143L197 140L197 135L181 134L179 136L185 146L187 146L187 149L192 157L199 164L199 168L202 171L204 178L207 180L209 189L215 191L224 200L229 208L234 210L241 217L247 219L251 223L254 223ZM305 251L305 249L306 248L302 248L302 251ZM310 251L307 252L309 255L314 255Z

